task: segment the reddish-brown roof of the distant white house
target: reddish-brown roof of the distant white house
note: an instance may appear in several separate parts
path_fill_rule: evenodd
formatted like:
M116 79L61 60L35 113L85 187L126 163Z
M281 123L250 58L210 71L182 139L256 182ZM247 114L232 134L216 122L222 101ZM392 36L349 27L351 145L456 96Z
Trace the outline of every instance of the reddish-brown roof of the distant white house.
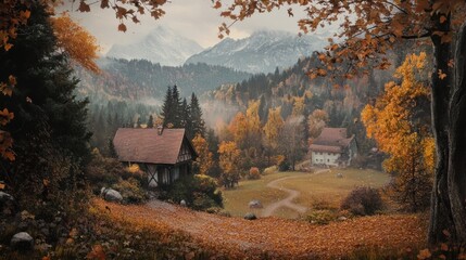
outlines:
M348 138L345 128L324 128L310 146L311 151L341 153L354 136Z

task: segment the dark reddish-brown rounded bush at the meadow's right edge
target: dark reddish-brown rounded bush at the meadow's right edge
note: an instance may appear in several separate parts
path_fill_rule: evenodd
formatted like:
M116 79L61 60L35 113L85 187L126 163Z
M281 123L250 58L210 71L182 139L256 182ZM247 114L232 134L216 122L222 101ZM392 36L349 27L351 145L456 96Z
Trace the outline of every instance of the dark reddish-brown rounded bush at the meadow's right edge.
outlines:
M340 208L358 216L374 214L382 208L382 199L376 188L357 187L343 199Z

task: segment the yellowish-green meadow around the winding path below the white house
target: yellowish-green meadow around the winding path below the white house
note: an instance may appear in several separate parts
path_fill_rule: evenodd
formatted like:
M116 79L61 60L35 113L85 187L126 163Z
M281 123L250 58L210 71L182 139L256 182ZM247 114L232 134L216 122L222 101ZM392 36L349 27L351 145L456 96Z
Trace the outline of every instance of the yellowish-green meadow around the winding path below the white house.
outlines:
M343 178L337 178L337 173L342 173ZM301 192L293 203L305 206L310 209L315 207L338 208L341 199L356 186L380 187L389 181L389 176L375 170L358 169L332 169L329 172L314 174L307 172L274 172L263 176L261 180L241 181L234 190L225 190L225 209L232 216L243 216L247 212L261 214L261 209L250 209L248 203L259 199L264 207L284 199L288 193L267 187L267 183L292 177L280 182L286 188ZM289 208L279 208L275 217L295 219L300 214Z

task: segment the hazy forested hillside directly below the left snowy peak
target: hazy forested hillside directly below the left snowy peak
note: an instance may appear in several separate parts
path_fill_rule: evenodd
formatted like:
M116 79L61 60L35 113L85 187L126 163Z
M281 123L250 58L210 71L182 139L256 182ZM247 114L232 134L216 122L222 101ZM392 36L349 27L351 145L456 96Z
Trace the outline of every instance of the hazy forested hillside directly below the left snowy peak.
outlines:
M90 100L123 99L139 102L161 101L166 87L177 84L181 96L203 93L224 83L240 82L248 73L222 66L190 64L179 67L161 66L146 60L101 58L101 75L76 69L79 92Z

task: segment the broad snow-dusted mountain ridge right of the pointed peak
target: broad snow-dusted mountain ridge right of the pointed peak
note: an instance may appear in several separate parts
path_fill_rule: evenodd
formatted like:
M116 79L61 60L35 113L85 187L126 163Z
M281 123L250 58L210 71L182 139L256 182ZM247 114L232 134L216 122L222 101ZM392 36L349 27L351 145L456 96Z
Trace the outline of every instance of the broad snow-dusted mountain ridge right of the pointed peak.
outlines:
M292 66L300 57L310 56L326 44L326 40L315 36L261 30L240 40L226 38L192 55L186 63L222 65L248 73L273 73L276 67Z

